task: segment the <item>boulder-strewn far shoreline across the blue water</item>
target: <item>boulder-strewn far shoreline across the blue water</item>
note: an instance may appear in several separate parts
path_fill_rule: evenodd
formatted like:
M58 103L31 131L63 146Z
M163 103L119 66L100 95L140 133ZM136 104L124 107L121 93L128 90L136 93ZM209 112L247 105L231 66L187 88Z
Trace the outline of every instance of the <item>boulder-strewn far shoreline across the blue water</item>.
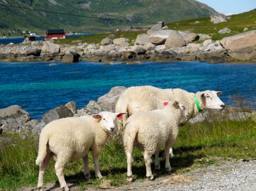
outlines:
M53 40L26 41L0 45L1 62L79 61L128 64L140 62L200 61L208 63L256 62L256 30L213 41L211 34L174 31L158 22L136 39L115 38L115 33L100 44L54 44Z

